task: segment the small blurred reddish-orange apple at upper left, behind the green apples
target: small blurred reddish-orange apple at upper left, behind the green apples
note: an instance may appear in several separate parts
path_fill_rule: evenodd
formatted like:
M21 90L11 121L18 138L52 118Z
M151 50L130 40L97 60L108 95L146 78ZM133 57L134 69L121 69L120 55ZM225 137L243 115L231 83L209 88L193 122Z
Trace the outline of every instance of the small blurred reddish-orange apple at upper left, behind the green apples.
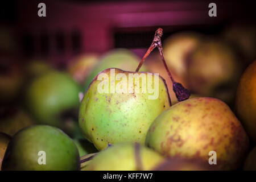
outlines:
M74 80L82 84L97 64L98 57L96 53L86 53L76 57L68 65L69 74Z

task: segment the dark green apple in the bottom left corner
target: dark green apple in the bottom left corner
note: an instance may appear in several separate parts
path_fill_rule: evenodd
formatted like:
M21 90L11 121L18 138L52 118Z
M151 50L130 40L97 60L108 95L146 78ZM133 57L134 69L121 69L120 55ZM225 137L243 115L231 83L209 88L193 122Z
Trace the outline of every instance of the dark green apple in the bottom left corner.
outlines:
M39 151L46 152L46 164L39 165ZM79 151L63 131L47 125L34 125L20 130L11 139L2 170L79 170Z

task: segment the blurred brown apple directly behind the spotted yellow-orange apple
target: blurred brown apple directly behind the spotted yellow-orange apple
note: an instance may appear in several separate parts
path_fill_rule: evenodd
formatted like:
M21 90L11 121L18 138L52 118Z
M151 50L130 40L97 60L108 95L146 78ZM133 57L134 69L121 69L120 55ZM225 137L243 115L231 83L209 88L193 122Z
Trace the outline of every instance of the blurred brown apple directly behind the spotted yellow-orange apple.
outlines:
M228 44L217 39L205 40L188 57L188 89L232 105L242 73L240 61Z

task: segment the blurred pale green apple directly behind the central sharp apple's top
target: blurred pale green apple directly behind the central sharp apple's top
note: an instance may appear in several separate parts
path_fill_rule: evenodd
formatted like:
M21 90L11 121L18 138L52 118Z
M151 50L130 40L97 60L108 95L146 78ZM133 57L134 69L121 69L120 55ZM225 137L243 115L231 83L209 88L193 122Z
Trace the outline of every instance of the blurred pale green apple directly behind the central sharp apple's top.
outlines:
M129 49L113 49L100 57L97 65L93 68L90 75L84 82L84 90L90 85L93 78L108 68L119 68L125 71L135 71L139 65L141 58L136 56ZM147 68L142 65L139 71L147 71Z

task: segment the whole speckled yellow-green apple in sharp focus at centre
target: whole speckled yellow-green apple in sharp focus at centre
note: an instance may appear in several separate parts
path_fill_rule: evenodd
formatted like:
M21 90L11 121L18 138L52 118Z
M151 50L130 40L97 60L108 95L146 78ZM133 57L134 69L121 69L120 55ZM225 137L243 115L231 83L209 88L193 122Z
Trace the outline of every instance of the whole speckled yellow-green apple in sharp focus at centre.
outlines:
M85 138L98 150L109 143L143 144L151 123L170 105L162 77L147 72L105 69L85 92L79 124Z

